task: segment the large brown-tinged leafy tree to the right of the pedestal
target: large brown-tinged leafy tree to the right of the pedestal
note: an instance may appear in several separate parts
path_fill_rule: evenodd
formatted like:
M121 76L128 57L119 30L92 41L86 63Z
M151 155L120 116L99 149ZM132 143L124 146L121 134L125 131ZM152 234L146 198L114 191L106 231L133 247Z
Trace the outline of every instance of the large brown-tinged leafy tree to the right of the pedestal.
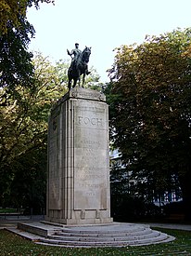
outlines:
M191 217L191 30L119 47L109 75L112 139L123 161L158 191L171 189L175 175Z

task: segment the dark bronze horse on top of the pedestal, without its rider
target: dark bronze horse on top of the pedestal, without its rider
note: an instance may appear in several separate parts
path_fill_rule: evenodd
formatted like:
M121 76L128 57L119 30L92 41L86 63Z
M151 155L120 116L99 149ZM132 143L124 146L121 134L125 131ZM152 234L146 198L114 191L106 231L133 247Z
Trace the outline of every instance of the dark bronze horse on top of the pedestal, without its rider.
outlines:
M69 90L71 88L72 80L73 80L72 88L75 88L77 81L79 81L79 86L80 86L80 78L82 74L83 74L83 84L82 84L82 87L83 87L84 81L85 81L85 74L89 74L87 64L89 62L90 54L91 54L91 47L85 47L83 49L83 52L79 55L78 59L73 63L71 63L68 71Z

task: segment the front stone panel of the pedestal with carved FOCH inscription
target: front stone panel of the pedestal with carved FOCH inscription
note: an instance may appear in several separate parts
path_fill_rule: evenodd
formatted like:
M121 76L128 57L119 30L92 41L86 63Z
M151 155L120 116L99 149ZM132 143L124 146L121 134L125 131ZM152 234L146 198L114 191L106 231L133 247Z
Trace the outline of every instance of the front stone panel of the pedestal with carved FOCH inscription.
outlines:
M74 114L74 209L107 209L107 108L83 102Z

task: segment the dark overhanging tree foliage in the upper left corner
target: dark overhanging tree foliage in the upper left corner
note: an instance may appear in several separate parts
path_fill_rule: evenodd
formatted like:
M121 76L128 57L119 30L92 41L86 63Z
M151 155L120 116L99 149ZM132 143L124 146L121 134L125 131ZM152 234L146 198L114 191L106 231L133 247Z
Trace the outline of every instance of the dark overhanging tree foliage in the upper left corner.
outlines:
M6 88L1 95L1 104L6 104L9 95L19 99L15 88L19 85L32 88L32 53L28 45L34 35L32 25L26 19L27 7L39 7L49 0L2 0L0 3L0 88Z

